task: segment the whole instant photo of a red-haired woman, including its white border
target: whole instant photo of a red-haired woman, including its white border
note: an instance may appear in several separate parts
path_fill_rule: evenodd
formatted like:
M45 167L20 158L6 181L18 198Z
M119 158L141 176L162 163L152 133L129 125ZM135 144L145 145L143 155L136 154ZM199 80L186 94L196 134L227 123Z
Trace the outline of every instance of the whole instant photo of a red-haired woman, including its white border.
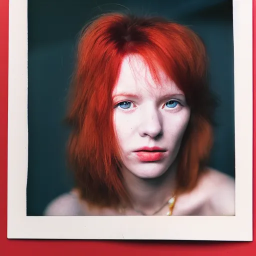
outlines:
M252 0L10 0L7 237L252 240Z

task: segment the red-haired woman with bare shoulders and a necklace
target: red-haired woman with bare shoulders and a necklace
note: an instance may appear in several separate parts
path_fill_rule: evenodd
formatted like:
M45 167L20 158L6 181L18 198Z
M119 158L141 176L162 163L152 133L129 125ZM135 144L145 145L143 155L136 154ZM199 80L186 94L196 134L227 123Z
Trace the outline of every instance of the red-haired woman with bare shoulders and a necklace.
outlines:
M206 166L206 66L185 26L119 13L88 24L67 115L76 187L45 215L234 215L234 180Z

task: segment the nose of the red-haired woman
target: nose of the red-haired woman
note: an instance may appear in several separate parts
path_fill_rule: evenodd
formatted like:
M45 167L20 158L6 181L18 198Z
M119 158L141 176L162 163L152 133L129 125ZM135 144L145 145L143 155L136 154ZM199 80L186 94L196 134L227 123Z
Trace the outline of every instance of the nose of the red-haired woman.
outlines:
M160 138L162 135L161 114L157 109L147 108L141 111L139 135L141 137L149 136L154 139Z

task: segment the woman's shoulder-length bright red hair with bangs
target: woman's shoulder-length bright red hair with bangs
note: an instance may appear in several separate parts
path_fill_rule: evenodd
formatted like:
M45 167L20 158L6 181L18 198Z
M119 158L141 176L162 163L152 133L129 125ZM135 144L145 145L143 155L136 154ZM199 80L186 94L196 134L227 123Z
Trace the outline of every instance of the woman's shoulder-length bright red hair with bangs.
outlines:
M67 121L72 131L68 161L87 202L129 202L120 173L112 122L112 90L127 54L139 54L154 77L157 68L184 92L191 117L178 153L178 189L192 189L205 169L212 145L214 100L207 84L201 39L186 26L159 17L104 14L81 32Z

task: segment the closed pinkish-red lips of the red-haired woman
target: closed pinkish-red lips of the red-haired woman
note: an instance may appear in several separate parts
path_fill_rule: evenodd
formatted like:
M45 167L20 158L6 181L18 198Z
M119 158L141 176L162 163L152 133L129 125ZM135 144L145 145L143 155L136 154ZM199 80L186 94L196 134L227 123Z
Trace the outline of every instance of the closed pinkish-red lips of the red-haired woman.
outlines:
M165 149L160 147L141 147L134 151L141 162L159 161L163 158Z

